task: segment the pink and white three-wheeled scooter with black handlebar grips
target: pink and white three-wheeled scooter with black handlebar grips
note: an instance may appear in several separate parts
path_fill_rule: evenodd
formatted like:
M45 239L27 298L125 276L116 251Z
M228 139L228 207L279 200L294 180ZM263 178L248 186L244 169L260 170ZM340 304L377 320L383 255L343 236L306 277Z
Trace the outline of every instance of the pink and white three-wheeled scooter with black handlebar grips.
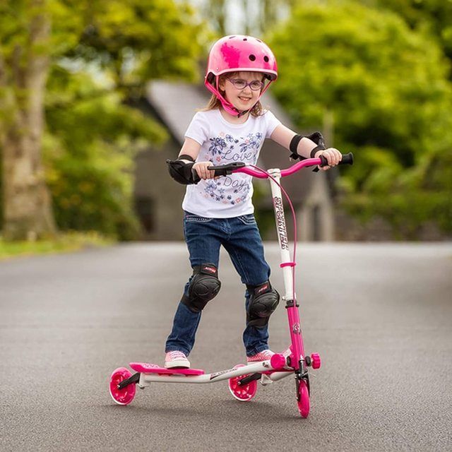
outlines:
M309 415L309 375L308 367L312 369L320 368L320 356L317 353L311 355L304 354L302 328L299 319L299 304L295 297L295 246L297 244L295 224L295 243L293 258L290 256L289 244L287 240L287 229L285 225L285 215L283 209L282 191L280 178L294 174L304 167L314 165L325 166L327 164L324 157L305 159L295 163L288 169L270 169L268 172L258 167L246 166L242 162L235 162L229 165L210 167L215 169L216 176L225 176L232 172L243 172L260 179L270 179L271 192L273 196L273 208L275 210L276 228L278 231L278 242L280 245L281 263L283 269L285 296L285 307L287 319L289 321L289 331L291 344L284 353L276 353L268 361L254 362L251 364L237 364L232 369L205 374L201 369L165 369L157 364L143 362L131 362L129 366L135 371L131 374L129 369L119 367L113 371L109 381L109 391L113 400L119 405L128 405L135 397L136 385L140 388L149 386L150 383L214 383L215 381L228 380L229 389L232 396L242 402L247 402L254 398L257 391L257 381L260 380L265 386L273 381L278 381L286 376L295 374L297 385L297 405L299 414L302 417ZM340 164L353 164L352 153L343 155ZM285 191L284 191L285 193ZM285 193L287 200L290 199ZM295 212L290 203L292 214Z

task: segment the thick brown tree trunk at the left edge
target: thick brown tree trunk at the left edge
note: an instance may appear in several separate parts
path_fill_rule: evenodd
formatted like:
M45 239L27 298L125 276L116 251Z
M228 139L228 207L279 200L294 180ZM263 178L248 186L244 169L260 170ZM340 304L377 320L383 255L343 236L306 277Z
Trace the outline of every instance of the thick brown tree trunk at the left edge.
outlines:
M37 8L42 6L40 0L32 3ZM11 106L11 116L4 121L1 133L3 235L8 240L56 234L42 165L49 33L49 18L42 12L36 13L30 20L27 43L16 47L15 57L8 64L10 71L0 61L0 87L6 88L6 100Z

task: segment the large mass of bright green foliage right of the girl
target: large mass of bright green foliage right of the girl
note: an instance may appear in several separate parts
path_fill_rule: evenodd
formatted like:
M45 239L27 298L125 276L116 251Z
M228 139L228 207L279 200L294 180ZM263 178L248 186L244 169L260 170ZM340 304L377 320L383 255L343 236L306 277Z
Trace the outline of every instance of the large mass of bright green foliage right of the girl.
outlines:
M332 112L335 147L355 152L342 184L350 210L381 215L400 237L426 220L451 232L442 172L452 90L436 40L394 13L326 1L303 2L270 44L280 67L273 90L297 125L312 129Z

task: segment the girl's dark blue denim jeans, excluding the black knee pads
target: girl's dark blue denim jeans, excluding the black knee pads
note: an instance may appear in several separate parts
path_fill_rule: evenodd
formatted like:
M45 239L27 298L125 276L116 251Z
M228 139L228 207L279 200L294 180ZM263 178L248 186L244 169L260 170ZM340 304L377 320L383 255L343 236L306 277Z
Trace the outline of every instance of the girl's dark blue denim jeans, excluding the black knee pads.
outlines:
M270 267L263 256L263 244L254 215L234 218L204 218L189 212L184 214L184 237L189 248L191 267L213 263L218 268L220 245L230 255L242 283L260 285L270 277ZM190 283L184 294L188 295ZM245 291L245 309L249 292ZM180 350L187 356L194 346L201 312L192 312L179 302L172 331L167 338L165 352ZM257 328L246 325L243 333L246 355L252 356L268 348L268 326Z

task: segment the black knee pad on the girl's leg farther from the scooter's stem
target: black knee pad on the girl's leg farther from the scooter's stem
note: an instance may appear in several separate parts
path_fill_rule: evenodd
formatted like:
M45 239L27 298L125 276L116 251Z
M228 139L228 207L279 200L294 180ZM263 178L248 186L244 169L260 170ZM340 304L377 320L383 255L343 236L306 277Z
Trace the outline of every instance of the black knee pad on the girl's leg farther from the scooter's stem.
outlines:
M220 292L221 283L217 276L218 269L211 263L194 267L189 294L184 294L182 303L192 312L201 312L206 304Z

